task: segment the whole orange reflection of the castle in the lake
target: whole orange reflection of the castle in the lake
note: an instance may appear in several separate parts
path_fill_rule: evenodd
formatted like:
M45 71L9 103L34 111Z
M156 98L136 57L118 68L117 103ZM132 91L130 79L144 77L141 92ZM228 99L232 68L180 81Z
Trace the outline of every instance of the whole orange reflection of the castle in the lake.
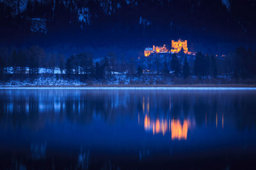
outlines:
M144 129L145 131L150 131L153 134L160 134L163 135L166 132L172 133L172 140L178 139L187 139L188 136L188 128L189 128L189 121L184 120L183 124L181 124L180 120L150 120L148 115L145 115L144 118Z

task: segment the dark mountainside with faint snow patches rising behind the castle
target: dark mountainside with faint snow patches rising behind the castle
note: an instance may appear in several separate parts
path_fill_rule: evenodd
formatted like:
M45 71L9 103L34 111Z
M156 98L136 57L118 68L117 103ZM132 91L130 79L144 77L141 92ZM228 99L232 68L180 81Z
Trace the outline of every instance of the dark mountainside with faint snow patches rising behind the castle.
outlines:
M40 45L65 55L141 55L146 46L188 39L190 51L255 49L252 0L0 0L0 45Z

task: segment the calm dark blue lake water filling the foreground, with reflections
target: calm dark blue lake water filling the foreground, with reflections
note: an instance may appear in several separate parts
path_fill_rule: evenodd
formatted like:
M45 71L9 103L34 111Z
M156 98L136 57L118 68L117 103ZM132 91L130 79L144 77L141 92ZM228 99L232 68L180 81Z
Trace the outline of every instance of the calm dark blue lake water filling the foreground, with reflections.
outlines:
M0 90L0 169L253 169L256 91Z

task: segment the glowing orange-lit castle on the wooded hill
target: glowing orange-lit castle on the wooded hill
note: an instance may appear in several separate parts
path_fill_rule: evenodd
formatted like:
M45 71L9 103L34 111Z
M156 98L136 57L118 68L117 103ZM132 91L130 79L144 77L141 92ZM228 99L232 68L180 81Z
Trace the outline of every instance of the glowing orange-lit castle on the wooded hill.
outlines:
M153 48L147 47L144 50L145 57L148 57L151 53L179 53L180 50L183 48L184 53L189 55L195 55L193 52L188 51L188 41L179 39L178 41L172 40L172 49L167 50L166 45L163 46L155 46Z

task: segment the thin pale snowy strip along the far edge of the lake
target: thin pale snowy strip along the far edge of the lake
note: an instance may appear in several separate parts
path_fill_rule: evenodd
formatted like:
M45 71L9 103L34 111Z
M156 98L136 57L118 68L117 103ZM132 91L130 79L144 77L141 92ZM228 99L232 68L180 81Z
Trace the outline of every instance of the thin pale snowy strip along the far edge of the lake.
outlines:
M256 87L0 87L0 90L255 90Z

